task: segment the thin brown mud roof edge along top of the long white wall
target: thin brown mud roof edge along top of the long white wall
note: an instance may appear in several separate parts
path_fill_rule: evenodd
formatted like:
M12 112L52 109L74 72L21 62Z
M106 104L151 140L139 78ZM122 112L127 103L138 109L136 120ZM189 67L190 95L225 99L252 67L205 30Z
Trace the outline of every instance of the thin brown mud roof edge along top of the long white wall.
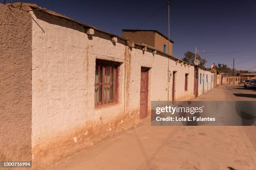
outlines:
M54 15L54 16L57 16L57 17L59 17L59 18L67 19L67 20L69 20L69 21L72 21L72 22L74 22L74 23L77 23L77 24L82 25L82 26L87 27L87 28L93 28L93 29L95 29L95 30L97 30L97 31L99 31L99 32L103 32L103 33L105 33L105 34L118 37L118 38L120 38L121 40L125 40L126 42L128 42L128 41L129 41L129 42L132 42L132 41L130 41L130 40L124 38L124 37L120 37L120 36L118 36L118 35L111 34L111 33L107 32L107 31L100 30L100 29L98 29L98 28L96 28L96 27L92 27L91 25L87 25L87 24L81 23L81 22L79 22L79 21L75 21L75 20L73 20L72 18L69 18L69 17L67 17L67 16L65 16L65 15L61 15L61 14L55 13L54 11L51 11L51 10L47 10L46 8L39 7L39 6L36 5L36 4L32 4L32 3L23 3L23 2L21 2L21 3L20 3L20 2L16 2L16 3L13 3L13 4L11 4L11 5L10 5L10 4L5 4L5 5L7 5L7 6L9 6L9 7L19 8L20 10L23 10L23 11L25 11L25 12L29 12L29 11L31 11L31 10L24 10L23 7L29 6L29 7L31 7L31 8L36 8L36 10L40 10L41 12L48 13L49 15ZM53 13L53 12L54 12L54 13ZM135 45L137 45L137 46L145 47L145 45L141 45L141 44L138 44L138 43L136 43L136 42L133 42L133 43L134 43ZM176 60L176 61L178 60L178 61L180 61L180 62L184 62L184 63L186 63L186 64L188 64L188 65L192 65L192 66L195 67L195 65L192 64L192 63L183 61L183 60L181 60L181 59L179 59L179 58L177 58L177 57L174 57L174 56L172 56L172 55L169 55L169 54L166 54L166 53L164 53L164 52L161 52L160 50L157 50L157 49L155 49L155 48L153 48L153 47L148 47L148 46L147 46L147 48L148 48L148 49L151 49L151 50L156 50L157 52L161 53L162 55L166 55L168 58L171 57L171 58L173 58L173 59Z

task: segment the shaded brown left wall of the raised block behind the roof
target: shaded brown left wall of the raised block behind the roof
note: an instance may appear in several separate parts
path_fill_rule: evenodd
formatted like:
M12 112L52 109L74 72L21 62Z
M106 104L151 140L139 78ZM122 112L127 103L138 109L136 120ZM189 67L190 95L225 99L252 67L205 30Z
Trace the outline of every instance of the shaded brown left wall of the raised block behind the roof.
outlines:
M123 31L123 37L140 44L155 46L155 33L153 31Z

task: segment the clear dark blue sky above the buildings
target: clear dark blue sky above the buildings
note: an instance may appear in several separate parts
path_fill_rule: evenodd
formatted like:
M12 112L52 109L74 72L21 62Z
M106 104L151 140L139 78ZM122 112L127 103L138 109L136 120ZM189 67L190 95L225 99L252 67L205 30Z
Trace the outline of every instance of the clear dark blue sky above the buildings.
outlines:
M13 0L18 1L18 0ZM67 15L116 35L136 29L167 0L23 0ZM213 62L248 70L256 66L255 0L172 0L170 6L173 55L206 50L207 67ZM164 7L139 29L168 35L168 8ZM235 52L236 51L236 52ZM232 52L232 53L210 53ZM202 55L201 55L202 56ZM240 64L239 64L240 63ZM256 70L254 68L253 70Z

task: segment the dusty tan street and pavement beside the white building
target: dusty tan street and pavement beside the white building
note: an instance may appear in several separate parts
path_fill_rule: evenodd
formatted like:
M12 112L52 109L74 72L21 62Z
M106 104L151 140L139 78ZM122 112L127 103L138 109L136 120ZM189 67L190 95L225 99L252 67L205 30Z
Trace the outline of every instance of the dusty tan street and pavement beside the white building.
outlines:
M256 100L256 91L221 86L195 100ZM138 126L47 170L256 170L254 126Z

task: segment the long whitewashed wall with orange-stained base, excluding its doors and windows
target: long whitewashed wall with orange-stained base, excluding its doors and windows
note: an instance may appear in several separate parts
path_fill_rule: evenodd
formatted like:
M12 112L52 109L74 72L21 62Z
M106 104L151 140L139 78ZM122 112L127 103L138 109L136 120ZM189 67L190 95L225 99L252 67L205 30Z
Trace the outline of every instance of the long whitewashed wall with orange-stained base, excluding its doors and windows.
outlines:
M148 114L151 100L167 100L168 85L172 99L166 55L130 48L119 38L113 43L110 35L97 30L88 36L83 26L41 11L31 14L36 20L32 24L32 159L36 168L137 124L142 66L150 68ZM120 62L117 104L94 105L96 59ZM194 67L173 59L169 65L170 71L177 71L175 99L189 100ZM187 91L185 73L189 74Z

